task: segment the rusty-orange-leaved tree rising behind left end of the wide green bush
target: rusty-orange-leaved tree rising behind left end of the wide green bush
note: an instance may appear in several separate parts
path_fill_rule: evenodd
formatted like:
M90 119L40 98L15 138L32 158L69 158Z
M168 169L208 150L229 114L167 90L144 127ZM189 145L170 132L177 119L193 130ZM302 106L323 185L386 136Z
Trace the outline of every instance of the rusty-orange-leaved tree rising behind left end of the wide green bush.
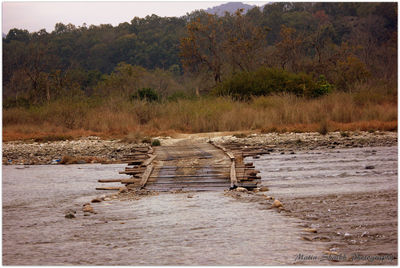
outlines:
M224 17L208 14L187 25L180 54L186 71L208 72L218 84L223 75L250 71L261 64L267 31L242 12Z

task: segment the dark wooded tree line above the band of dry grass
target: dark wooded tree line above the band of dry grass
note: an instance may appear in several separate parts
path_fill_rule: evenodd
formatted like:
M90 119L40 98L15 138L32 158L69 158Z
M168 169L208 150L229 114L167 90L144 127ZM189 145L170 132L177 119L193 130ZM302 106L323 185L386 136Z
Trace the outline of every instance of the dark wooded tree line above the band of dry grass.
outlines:
M57 23L50 33L11 29L3 38L5 106L202 92L242 99L280 88L316 97L396 81L397 5L387 2L273 3L115 27Z

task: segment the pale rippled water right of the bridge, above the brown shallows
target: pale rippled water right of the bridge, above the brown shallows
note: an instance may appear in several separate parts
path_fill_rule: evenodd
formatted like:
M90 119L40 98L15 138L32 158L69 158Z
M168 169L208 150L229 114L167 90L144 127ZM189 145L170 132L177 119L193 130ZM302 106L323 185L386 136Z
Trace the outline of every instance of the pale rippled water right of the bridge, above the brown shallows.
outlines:
M247 159L269 194L304 197L397 189L397 147L273 153Z

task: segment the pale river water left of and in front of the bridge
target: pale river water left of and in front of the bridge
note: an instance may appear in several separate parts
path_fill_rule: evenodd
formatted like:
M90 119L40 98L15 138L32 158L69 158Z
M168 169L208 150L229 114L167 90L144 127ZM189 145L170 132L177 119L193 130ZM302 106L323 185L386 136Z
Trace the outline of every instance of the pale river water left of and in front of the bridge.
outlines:
M6 265L292 264L299 221L222 192L160 194L81 206L98 178L124 165L3 166L3 263ZM75 219L64 217L76 209Z

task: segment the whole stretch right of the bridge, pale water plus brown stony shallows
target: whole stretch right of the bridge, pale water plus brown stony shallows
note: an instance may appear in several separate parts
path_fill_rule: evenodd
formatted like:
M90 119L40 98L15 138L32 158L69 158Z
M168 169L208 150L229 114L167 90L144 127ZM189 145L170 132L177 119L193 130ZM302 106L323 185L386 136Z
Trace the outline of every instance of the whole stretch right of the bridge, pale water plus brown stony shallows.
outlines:
M397 264L397 147L275 153L254 162L285 215L316 228L310 243L324 240L345 256L336 264Z

